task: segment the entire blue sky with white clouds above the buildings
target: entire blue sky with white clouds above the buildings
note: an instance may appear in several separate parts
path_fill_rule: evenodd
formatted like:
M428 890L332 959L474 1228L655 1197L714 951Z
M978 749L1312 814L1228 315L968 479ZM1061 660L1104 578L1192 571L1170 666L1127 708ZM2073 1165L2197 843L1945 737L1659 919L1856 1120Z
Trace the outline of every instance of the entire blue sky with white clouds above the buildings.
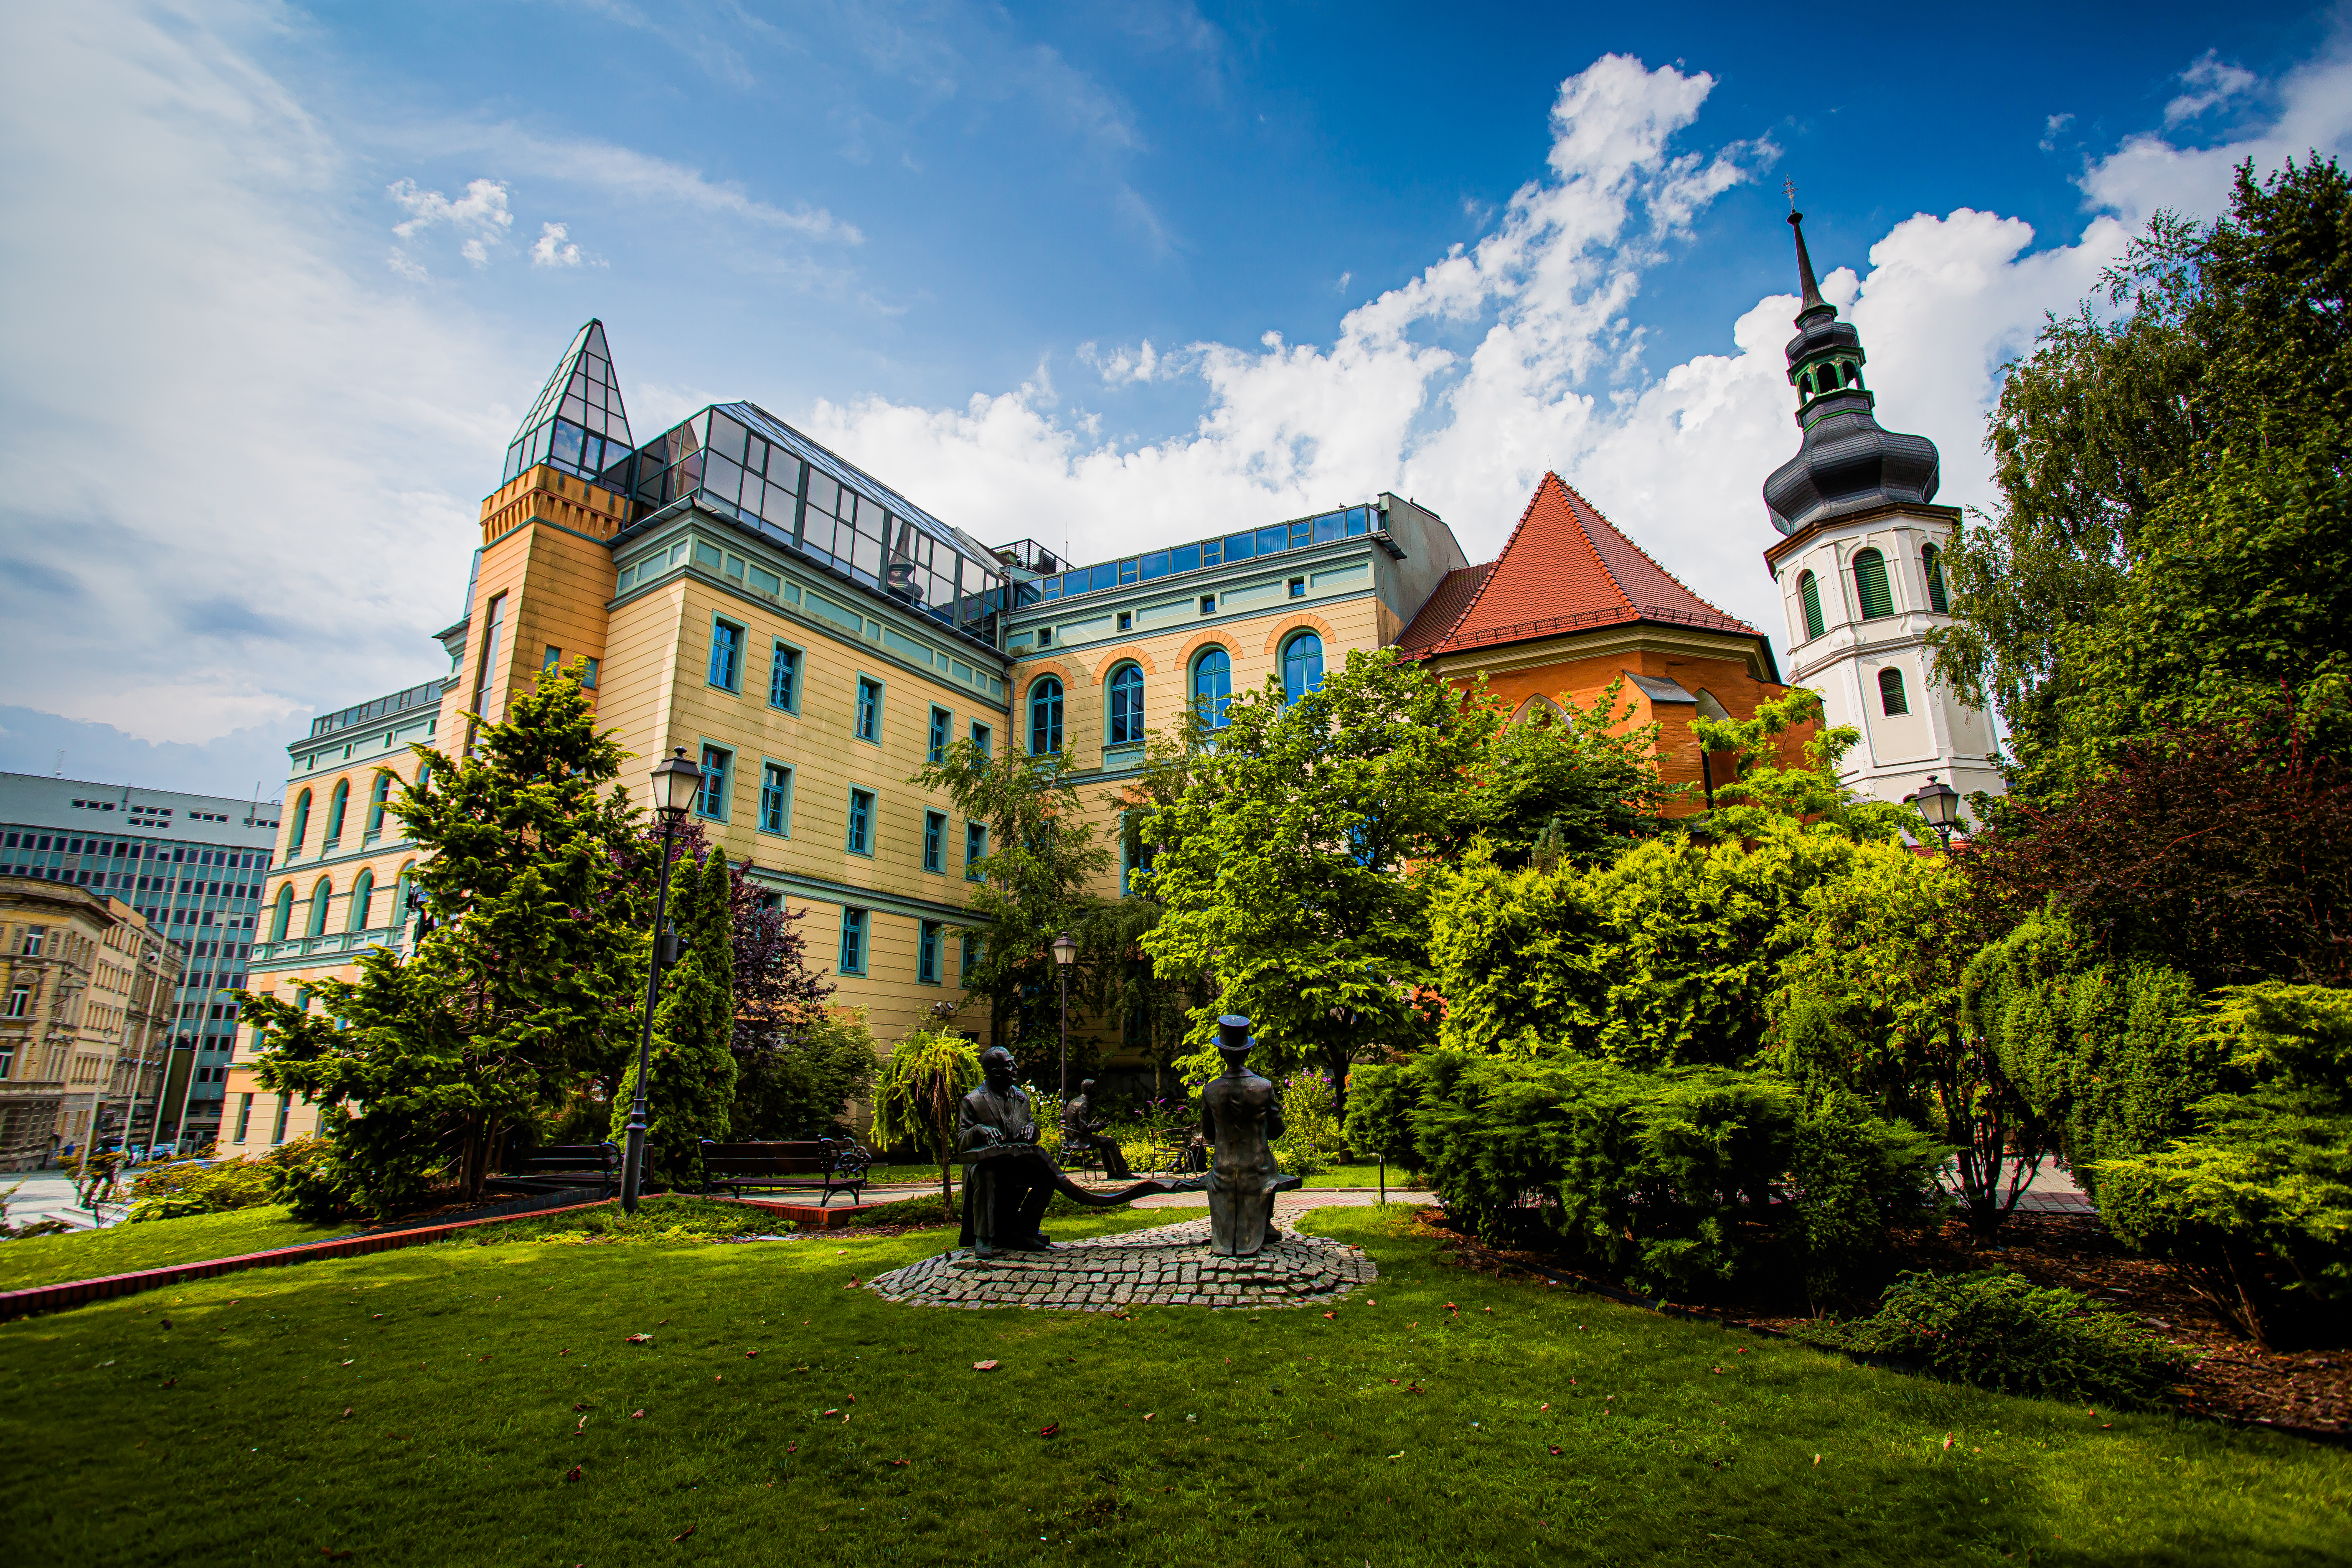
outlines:
M0 766L275 788L442 668L574 327L1080 555L1557 468L1780 637L1795 179L1882 418L1980 503L1997 367L2227 162L2352 136L2303 7L318 5L0 19Z

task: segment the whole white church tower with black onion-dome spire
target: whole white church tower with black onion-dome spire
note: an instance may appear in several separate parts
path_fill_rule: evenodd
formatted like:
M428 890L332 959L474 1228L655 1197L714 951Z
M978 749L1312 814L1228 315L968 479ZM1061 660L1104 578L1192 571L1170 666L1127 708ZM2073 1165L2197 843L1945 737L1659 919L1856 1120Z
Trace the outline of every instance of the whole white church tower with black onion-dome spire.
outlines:
M1804 214L1790 212L1804 303L1788 343L1804 442L1764 482L1783 534L1764 552L1788 614L1790 684L1820 691L1828 724L1863 731L1839 778L1858 795L1898 802L1929 776L1999 795L1992 724L1929 684L1926 635L1950 625L1943 550L1957 505L1936 505L1936 442L1884 430L1863 386L1863 339L1820 296L1804 249Z

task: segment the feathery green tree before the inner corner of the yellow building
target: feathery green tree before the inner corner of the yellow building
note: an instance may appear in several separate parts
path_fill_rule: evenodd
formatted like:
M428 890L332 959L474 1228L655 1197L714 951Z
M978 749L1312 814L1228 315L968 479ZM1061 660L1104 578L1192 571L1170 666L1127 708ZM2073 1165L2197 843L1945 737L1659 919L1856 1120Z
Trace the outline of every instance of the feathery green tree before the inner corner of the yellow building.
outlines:
M1051 1027L1058 999L1051 943L1098 905L1089 891L1112 851L1082 820L1077 762L1068 750L990 755L971 741L924 764L913 783L948 790L955 809L988 825L981 882L962 931L978 938L964 990L988 997L990 1039Z

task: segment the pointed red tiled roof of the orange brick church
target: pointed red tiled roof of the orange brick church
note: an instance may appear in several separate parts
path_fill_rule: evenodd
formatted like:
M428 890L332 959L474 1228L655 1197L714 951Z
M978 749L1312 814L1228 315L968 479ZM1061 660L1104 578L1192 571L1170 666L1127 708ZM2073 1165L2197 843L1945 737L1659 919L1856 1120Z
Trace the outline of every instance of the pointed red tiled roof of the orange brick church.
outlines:
M1759 635L1675 581L1590 501L1548 473L1503 555L1446 574L1397 639L1397 651L1428 658L1623 621Z

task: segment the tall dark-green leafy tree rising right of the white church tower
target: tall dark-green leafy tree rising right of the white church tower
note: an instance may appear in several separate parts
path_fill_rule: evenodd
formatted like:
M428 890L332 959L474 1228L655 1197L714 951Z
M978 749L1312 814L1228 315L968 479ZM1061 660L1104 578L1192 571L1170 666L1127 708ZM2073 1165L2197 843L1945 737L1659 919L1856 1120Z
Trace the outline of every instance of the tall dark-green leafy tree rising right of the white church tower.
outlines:
M1990 698L2025 795L2277 682L2343 724L2352 181L2239 169L2230 212L2159 214L2107 313L2051 320L1992 416L2002 508L1947 557L1938 677ZM2249 614L2251 611L2251 614Z

